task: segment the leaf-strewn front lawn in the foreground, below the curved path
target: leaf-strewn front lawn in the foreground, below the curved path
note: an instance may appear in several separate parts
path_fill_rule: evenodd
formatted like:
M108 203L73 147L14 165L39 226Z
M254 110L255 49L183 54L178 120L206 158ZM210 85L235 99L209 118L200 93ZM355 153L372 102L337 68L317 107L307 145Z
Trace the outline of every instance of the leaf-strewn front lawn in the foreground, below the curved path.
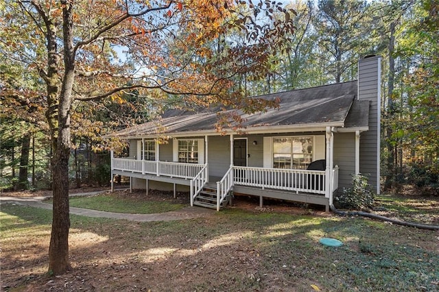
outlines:
M47 236L50 210L7 204L1 206L0 214L0 238L7 257L13 238ZM437 232L359 217L226 208L209 218L148 223L71 215L71 229L106 238L104 243L93 243L94 253L93 248L82 253L90 253L88 258L108 258L110 263L118 263L121 256L123 266L134 270L128 278L144 269L171 272L166 281L154 282L157 291L182 285L180 277L189 277L179 286L182 291L313 291L311 285L322 291L439 290ZM339 239L344 245L324 247L318 243L322 237ZM171 251L164 260L147 261L149 254L162 249ZM76 265L86 269L82 255L74 251L73 255ZM106 279L123 277L113 269L93 266L93 272L102 270ZM154 274L147 274L145 283L153 285L151 279Z

